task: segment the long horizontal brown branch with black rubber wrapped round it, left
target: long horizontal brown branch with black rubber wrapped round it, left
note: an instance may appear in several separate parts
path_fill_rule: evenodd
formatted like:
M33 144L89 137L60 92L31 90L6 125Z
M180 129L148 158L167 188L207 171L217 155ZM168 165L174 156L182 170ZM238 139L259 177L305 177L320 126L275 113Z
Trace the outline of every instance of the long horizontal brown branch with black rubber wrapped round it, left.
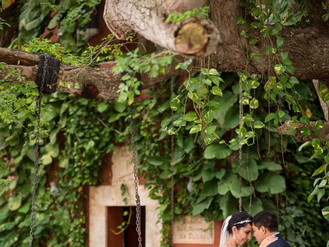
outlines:
M175 69L177 62L184 61L180 56L174 57L175 62L166 67L166 74L157 78L150 74L141 74L142 89L146 89L160 81L184 74L184 71ZM23 50L0 47L0 61L8 64L7 70L16 69L26 80L35 81L38 70L39 56L29 54ZM19 65L17 65L19 64ZM197 64L197 63L196 63ZM196 67L194 69L197 69ZM0 79L7 75L0 73ZM70 66L60 64L57 91L74 94L83 98L117 99L121 75L114 74L112 68L90 68L85 66ZM16 78L7 78L9 82L16 82Z

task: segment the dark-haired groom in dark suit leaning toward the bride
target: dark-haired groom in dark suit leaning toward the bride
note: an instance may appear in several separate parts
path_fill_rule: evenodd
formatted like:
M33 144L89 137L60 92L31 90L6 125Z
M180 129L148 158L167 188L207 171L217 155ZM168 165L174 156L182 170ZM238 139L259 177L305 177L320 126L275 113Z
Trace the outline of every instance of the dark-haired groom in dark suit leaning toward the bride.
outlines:
M269 244L268 247L291 247L278 232L278 218L270 211L260 211L252 218L252 230L259 244L269 236L276 236L278 240Z

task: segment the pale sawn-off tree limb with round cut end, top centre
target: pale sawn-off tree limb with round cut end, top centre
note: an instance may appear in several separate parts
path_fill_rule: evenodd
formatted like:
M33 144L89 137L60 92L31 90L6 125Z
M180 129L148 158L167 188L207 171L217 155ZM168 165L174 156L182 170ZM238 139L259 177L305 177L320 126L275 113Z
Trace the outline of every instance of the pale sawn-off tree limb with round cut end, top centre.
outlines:
M211 21L194 17L179 25L166 23L169 13L205 3L205 0L106 0L103 17L109 30L120 40L135 31L179 54L205 57L215 51L220 42L218 30Z

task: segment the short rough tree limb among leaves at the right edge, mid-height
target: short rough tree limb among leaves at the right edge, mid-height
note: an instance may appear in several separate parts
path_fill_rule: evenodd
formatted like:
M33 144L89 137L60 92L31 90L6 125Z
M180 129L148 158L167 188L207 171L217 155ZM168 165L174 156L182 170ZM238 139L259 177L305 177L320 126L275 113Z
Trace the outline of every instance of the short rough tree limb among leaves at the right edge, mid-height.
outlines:
M278 133L280 135L290 135L294 139L298 140L299 142L305 143L313 138L320 138L324 142L326 142L326 139L329 137L329 121L323 122L323 128L320 130L320 135L317 135L314 131L314 125L315 122L309 122L308 125L305 125L304 123L301 123L297 121L295 124L293 121L285 121L282 126L278 128ZM301 129L307 127L311 131L311 134L309 136L304 136L301 133ZM295 132L295 133L294 133Z

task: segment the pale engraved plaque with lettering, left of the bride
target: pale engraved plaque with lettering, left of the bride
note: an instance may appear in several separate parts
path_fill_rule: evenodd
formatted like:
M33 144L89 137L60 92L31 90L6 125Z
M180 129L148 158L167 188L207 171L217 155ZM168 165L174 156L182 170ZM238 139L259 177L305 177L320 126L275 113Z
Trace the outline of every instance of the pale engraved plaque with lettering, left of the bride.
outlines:
M214 244L214 223L207 223L202 217L184 216L174 222L174 243Z

